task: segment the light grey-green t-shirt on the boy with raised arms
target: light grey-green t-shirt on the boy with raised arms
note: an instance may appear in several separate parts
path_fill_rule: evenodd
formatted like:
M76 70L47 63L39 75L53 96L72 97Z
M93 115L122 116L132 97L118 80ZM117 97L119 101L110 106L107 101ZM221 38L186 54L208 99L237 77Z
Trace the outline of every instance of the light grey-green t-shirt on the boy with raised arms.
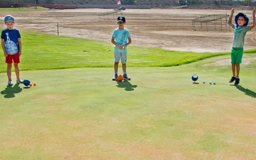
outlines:
M234 30L234 37L233 37L233 46L235 48L241 48L244 47L245 43L245 34L247 31L250 30L250 26L244 26L244 27L236 27L235 24L232 24L232 27Z

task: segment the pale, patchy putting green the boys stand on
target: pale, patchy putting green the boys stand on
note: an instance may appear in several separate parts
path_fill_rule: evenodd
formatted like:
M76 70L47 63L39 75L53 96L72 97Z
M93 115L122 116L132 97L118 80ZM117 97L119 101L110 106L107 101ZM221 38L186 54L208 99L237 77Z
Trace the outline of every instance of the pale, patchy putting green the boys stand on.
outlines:
M232 86L230 65L204 66L228 57L130 67L123 82L112 68L21 71L32 87L0 73L0 160L256 160L255 68Z

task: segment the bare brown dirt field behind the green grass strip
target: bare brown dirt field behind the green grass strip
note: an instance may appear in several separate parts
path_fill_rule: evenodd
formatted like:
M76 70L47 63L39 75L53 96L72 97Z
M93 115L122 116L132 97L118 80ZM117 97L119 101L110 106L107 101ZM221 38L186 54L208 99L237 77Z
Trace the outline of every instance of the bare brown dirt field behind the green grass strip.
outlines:
M16 28L39 31L65 36L82 37L110 42L113 30L118 27L116 18L119 14L101 16L113 9L68 9L31 12L0 12L3 18L12 14L16 18ZM245 12L252 20L251 10ZM224 26L224 31L193 31L192 19L210 14L229 14L229 10L198 9L126 9L126 27L132 38L132 45L161 48L176 51L222 52L232 47L233 29ZM234 23L234 22L233 22ZM249 25L252 21L249 22ZM2 23L0 27L4 27ZM228 31L225 29L227 28ZM256 29L249 31L244 49L255 48Z

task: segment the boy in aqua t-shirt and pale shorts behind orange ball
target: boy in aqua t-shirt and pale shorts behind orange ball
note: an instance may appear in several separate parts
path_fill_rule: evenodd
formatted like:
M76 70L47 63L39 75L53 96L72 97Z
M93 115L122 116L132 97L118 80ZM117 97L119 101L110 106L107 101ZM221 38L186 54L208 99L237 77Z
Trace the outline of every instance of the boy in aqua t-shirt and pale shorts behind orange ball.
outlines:
M118 28L116 28L112 33L111 42L115 45L115 77L112 80L117 80L118 77L118 64L121 59L122 68L124 72L124 79L130 80L126 73L126 61L127 61L127 46L131 43L130 32L125 28L126 18L124 16L119 16L117 18ZM128 42L127 42L128 41Z

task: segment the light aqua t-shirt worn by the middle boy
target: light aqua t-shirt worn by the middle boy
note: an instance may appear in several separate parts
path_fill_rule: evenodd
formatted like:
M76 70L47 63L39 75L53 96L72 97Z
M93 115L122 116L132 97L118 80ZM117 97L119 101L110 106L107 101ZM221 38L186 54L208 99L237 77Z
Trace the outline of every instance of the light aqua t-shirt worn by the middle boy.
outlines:
M115 37L115 42L119 45L125 46L128 43L128 37L130 37L130 32L127 28L119 29L116 28L113 33L112 37ZM124 50L119 49L117 46L115 47L115 52L127 52L127 47Z

